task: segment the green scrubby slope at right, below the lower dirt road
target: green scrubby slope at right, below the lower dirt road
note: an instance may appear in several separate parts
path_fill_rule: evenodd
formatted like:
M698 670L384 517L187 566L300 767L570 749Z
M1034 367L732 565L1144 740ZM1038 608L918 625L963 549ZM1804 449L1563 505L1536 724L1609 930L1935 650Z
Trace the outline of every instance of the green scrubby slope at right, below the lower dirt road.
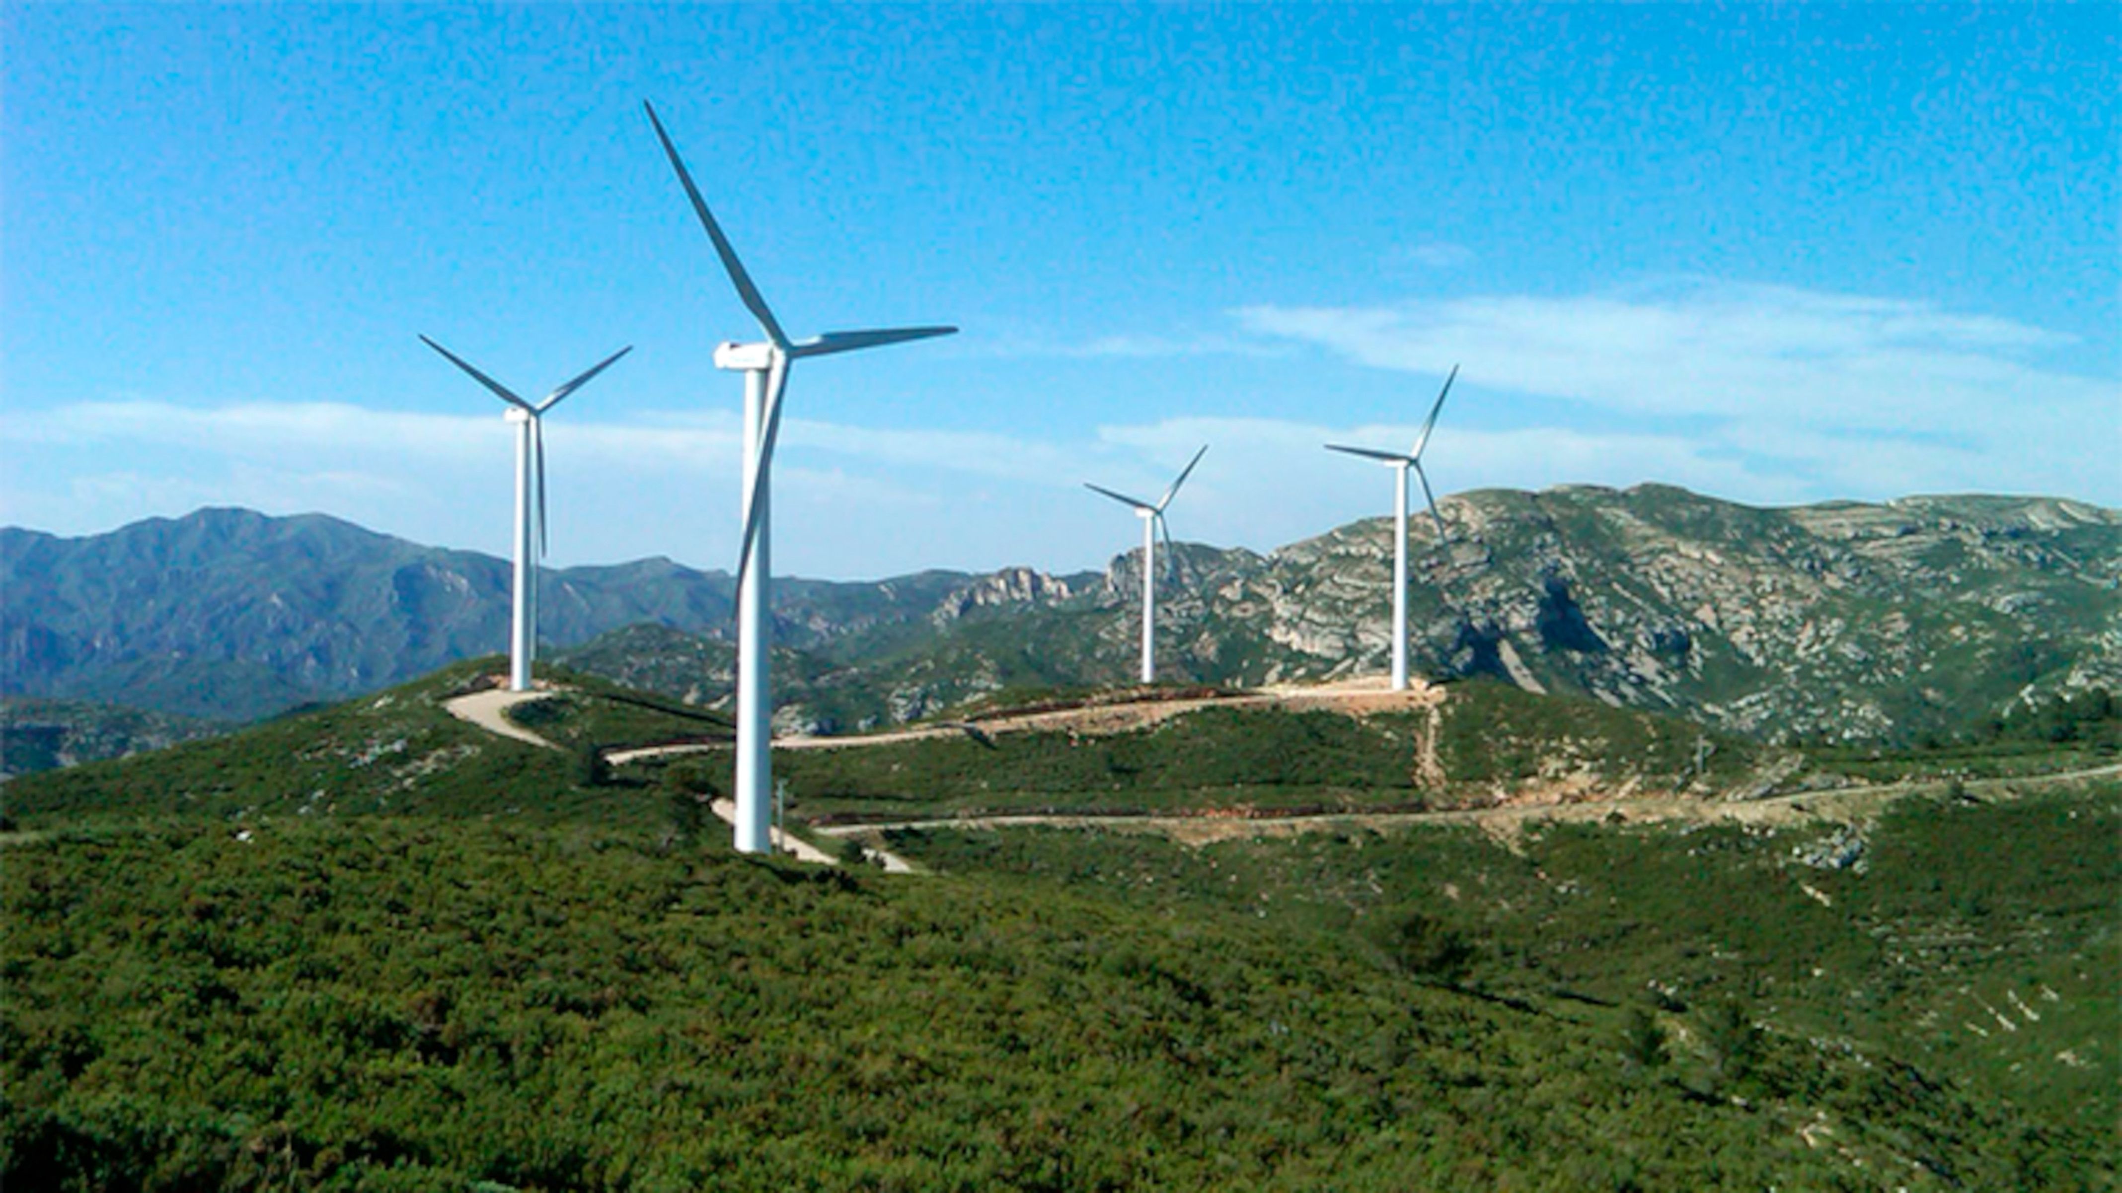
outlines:
M1413 909L1430 921L1422 938L1449 928L1471 943L1468 991L1608 1019L1653 996L1659 1023L1689 1040L1695 1089L1744 1091L1763 1038L1810 1040L2027 1106L2114 1163L2114 779L1993 802L1908 798L1855 832L1553 824L1509 847L1468 828L1210 847L1097 830L887 838L944 872L1101 887L1182 917L1369 936L1388 953Z

